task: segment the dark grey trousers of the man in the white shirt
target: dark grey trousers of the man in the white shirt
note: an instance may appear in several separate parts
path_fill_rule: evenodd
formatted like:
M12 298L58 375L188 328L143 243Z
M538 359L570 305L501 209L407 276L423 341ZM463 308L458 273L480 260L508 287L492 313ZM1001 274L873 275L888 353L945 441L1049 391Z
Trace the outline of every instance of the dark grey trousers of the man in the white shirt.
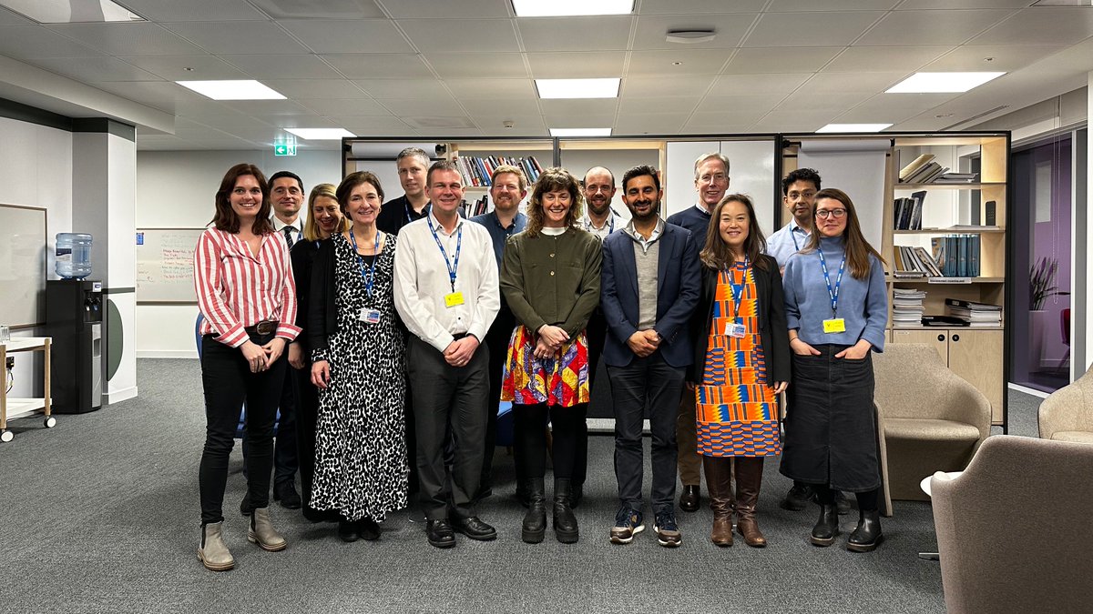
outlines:
M410 338L407 364L413 388L418 434L421 507L428 520L475 516L473 497L482 476L482 439L490 393L490 349L480 345L463 367L416 336ZM451 435L451 482L446 484L444 449Z

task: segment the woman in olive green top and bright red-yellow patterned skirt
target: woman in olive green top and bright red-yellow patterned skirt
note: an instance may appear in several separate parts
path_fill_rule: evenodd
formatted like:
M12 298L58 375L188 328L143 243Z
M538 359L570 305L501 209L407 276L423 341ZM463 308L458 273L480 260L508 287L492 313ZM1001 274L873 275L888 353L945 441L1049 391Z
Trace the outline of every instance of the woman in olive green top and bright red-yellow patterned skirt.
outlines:
M502 399L516 416L516 471L531 489L521 536L539 543L546 532L543 476L550 418L554 459L554 532L562 543L578 539L569 479L588 403L588 340L585 327L600 302L602 250L580 229L580 186L564 168L546 169L528 204L528 226L505 245L501 291L519 326L505 361Z

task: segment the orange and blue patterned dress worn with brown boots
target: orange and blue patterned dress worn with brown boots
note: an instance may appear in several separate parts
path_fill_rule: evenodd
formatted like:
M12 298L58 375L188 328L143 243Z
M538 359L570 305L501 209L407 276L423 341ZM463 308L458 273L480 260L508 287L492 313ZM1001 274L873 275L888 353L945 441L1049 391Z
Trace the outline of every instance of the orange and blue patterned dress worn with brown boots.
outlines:
M732 284L743 284L737 321L743 336L730 336ZM751 267L737 262L717 276L709 324L706 369L695 387L698 453L706 457L767 457L781 450L778 405L766 386L766 359L755 316L755 280Z

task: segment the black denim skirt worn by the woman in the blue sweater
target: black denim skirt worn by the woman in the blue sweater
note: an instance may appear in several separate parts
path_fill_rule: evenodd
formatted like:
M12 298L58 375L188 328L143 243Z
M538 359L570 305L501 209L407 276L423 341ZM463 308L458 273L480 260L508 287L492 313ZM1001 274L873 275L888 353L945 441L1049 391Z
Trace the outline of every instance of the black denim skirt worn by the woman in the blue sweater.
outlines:
M792 355L783 475L850 493L881 485L873 408L872 352L836 358L846 345L814 345L819 356Z

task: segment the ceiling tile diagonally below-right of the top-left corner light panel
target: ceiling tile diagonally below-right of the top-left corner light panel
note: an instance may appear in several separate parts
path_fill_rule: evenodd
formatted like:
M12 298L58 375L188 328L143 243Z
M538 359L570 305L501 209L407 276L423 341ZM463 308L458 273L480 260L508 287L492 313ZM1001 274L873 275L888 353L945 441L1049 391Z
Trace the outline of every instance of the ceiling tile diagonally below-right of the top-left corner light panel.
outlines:
M307 47L293 40L273 22L187 22L164 25L215 55L309 52Z

